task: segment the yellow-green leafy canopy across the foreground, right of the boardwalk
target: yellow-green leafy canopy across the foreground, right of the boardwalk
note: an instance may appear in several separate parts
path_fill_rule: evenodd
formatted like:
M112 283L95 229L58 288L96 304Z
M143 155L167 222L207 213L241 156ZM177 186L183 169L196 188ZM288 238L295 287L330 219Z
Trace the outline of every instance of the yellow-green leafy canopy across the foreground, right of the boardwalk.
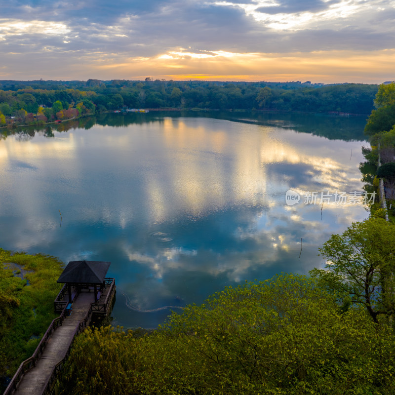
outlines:
M61 394L393 394L394 334L313 278L228 287L150 335L80 335Z

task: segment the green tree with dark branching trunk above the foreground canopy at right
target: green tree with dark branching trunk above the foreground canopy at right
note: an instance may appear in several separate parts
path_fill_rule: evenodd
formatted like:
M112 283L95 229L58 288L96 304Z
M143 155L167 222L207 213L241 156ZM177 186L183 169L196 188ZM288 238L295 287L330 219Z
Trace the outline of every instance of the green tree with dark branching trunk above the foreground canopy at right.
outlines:
M395 226L382 218L353 224L321 248L325 270L311 275L338 301L363 305L375 322L395 312Z

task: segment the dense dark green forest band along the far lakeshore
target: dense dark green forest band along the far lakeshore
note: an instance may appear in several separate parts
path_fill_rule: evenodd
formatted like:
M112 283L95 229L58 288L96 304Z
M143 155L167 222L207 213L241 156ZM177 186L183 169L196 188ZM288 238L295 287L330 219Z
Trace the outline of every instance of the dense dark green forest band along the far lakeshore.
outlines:
M0 126L122 108L370 114L377 85L310 82L0 80Z

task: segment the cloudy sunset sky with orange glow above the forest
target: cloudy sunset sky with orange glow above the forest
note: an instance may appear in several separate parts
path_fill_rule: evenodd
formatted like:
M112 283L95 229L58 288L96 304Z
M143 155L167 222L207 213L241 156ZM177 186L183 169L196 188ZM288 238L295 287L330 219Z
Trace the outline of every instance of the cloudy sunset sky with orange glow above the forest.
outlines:
M0 0L0 79L382 83L395 0Z

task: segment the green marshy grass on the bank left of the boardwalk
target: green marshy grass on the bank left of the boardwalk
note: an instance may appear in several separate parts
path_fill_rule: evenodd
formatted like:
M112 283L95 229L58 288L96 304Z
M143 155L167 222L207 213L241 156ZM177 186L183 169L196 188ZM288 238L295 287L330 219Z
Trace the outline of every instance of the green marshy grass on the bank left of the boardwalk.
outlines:
M63 266L52 256L0 248L0 375L15 373L57 316L53 301Z

